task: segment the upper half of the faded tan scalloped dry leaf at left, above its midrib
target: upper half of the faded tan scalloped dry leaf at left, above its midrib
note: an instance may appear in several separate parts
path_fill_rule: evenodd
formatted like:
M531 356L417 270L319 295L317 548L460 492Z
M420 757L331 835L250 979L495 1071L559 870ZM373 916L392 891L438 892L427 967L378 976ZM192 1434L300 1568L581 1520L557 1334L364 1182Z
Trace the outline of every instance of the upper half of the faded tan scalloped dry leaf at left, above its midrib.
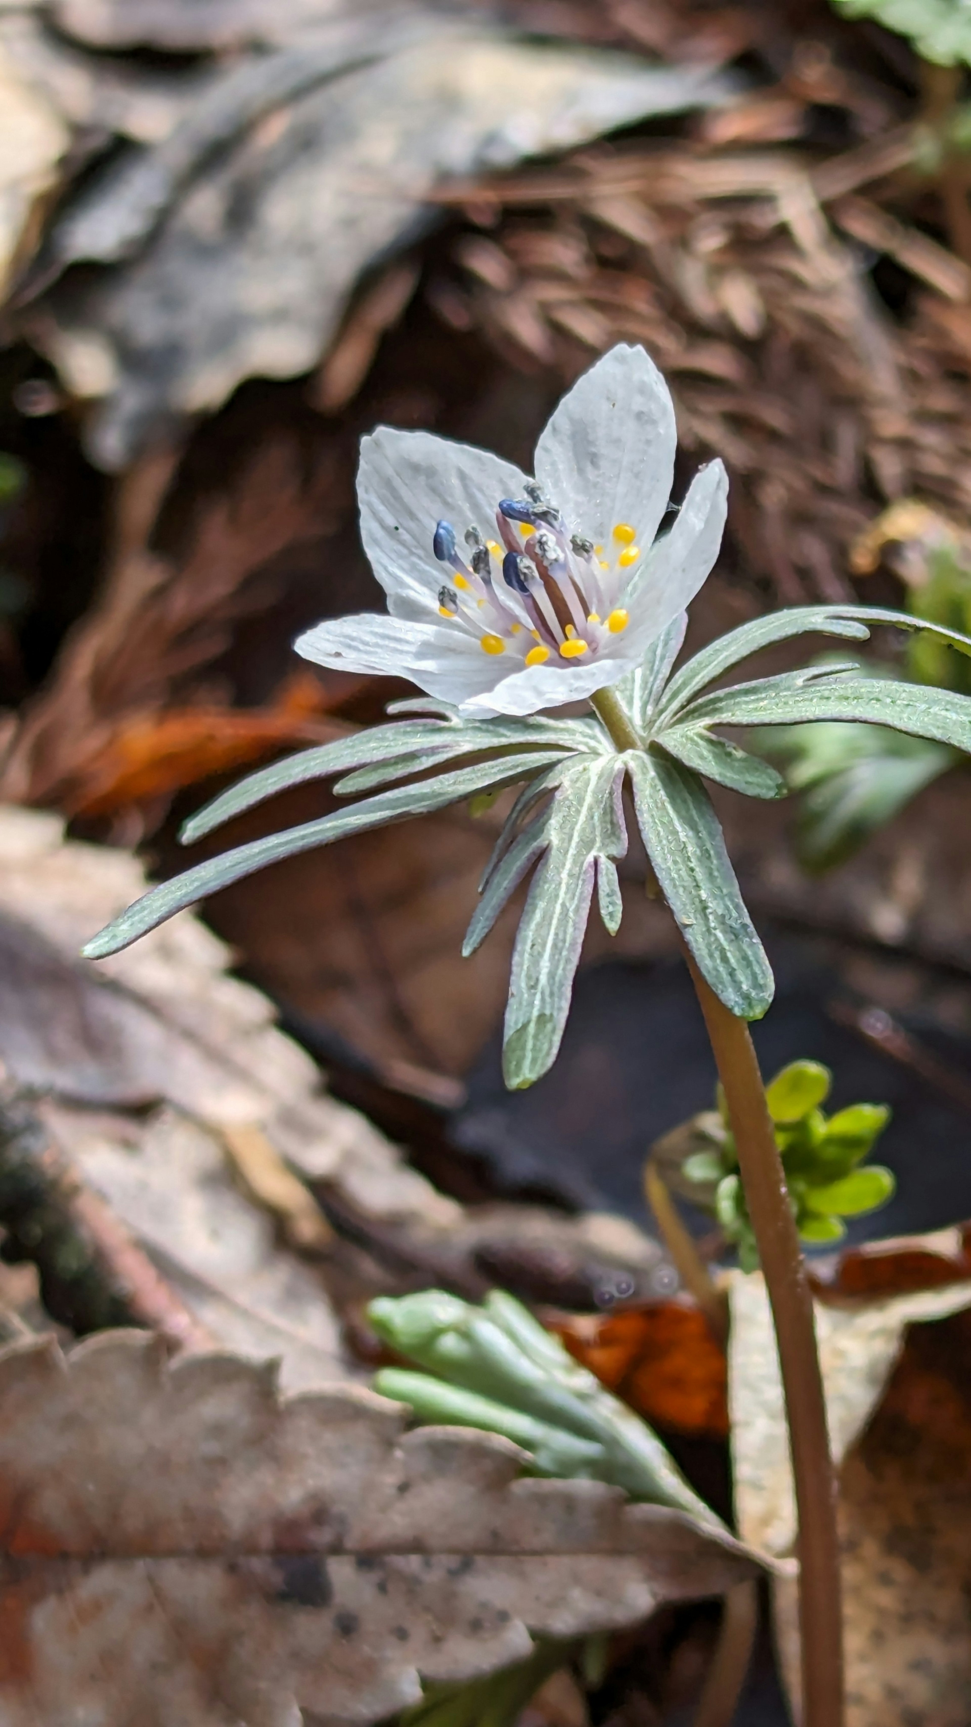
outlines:
M460 1207L408 1169L363 1116L321 1091L314 1064L273 1024L271 1003L226 976L226 948L197 919L175 919L104 967L76 962L90 931L143 888L126 853L64 843L57 817L0 808L0 915L45 953L48 981L64 988L64 1019L45 1028L45 1002L31 1003L29 971L21 976L21 1024L0 1014L0 1033L3 1017L9 1028L0 1059L12 1076L57 1095L60 1072L67 1098L169 1104L216 1129L254 1123L299 1173L330 1183L366 1216L454 1223ZM48 1009L55 998L45 998ZM45 1034L59 1036L55 1064Z

